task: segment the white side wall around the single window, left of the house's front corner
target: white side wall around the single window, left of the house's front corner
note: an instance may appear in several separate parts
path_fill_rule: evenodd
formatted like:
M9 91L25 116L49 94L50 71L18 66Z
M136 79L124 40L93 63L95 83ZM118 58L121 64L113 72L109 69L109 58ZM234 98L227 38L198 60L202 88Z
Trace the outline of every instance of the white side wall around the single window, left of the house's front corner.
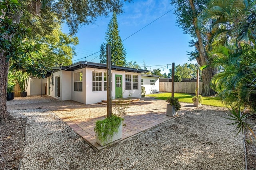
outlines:
M74 73L82 71L83 73L83 89L82 91L74 91ZM86 69L78 69L75 71L71 71L71 88L69 89L71 93L71 100L78 101L80 103L86 103Z

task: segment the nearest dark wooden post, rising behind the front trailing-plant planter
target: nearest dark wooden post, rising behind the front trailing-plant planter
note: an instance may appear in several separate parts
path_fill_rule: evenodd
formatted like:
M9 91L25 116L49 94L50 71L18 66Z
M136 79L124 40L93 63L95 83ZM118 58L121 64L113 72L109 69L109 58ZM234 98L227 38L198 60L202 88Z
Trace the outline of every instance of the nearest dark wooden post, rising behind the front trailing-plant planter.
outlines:
M111 46L107 44L107 116L112 116Z

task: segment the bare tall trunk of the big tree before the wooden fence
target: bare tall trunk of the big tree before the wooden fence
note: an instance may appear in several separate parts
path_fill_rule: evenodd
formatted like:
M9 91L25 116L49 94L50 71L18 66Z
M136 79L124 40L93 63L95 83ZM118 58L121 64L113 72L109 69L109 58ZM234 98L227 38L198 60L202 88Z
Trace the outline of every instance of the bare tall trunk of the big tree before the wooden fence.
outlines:
M206 52L206 49L204 47L204 42L201 36L201 31L198 29L198 20L196 16L196 10L193 3L193 0L189 0L191 9L193 11L193 25L195 27L196 36L198 38L198 41L195 43L195 47L199 52L199 57L196 58L197 63L200 66L209 64L208 61L208 55ZM210 88L210 82L212 79L212 76L217 73L217 70L211 67L207 67L206 69L202 70L202 81L203 81L203 89L202 89L202 95L204 96L210 96L214 93L214 91Z

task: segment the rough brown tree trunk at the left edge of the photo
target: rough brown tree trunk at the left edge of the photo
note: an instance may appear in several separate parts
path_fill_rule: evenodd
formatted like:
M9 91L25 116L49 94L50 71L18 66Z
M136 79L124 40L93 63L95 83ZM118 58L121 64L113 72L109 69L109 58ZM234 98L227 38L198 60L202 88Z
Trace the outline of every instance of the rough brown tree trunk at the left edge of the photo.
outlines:
M6 121L7 113L7 76L9 62L6 62L4 50L0 50L0 124Z

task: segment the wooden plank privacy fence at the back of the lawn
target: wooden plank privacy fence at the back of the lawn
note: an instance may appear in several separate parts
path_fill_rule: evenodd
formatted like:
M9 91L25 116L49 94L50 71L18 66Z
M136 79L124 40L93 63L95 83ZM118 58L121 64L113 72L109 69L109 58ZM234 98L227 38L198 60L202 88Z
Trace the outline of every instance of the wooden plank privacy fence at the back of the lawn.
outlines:
M202 94L203 83L199 82L199 93ZM159 82L159 91L172 92L172 82ZM196 82L174 82L176 93L196 93Z

